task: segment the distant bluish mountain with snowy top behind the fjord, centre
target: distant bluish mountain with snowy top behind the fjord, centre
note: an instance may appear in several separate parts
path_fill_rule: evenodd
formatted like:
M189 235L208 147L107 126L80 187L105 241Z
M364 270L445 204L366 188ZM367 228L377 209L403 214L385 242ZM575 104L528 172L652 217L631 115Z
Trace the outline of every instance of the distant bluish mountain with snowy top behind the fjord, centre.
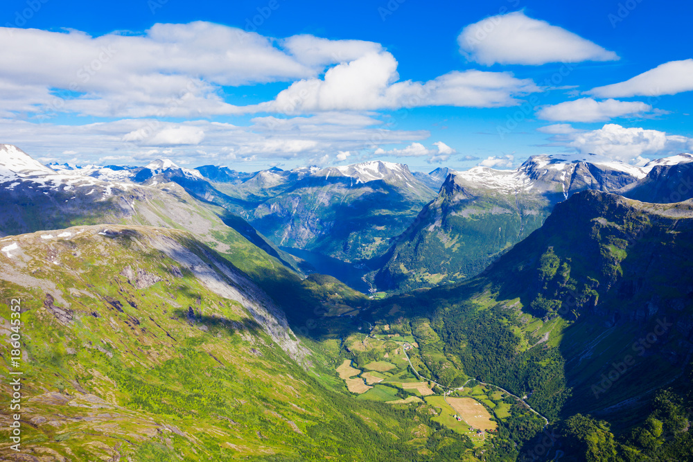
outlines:
M207 197L274 244L356 262L383 254L435 197L401 164L265 170L243 184L212 184Z

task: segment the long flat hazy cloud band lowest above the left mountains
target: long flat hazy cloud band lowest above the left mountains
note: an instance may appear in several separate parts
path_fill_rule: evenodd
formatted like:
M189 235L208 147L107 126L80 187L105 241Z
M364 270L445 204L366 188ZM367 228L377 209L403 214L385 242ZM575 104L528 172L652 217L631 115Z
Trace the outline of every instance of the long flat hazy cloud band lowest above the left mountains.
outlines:
M354 156L373 149L376 143L412 143L430 136L426 130L383 128L380 121L367 116L340 119L335 114L258 117L248 126L207 120L173 123L152 118L54 125L0 118L0 133L4 134L4 143L16 144L35 157L67 161L76 156L76 163L98 163L98 159L112 157L144 164L167 150L167 157L181 164L185 159L191 159L194 165L236 160L252 161L258 166L277 159L310 163L326 152L349 152ZM89 146L89 150L76 146ZM69 150L78 154L63 154Z

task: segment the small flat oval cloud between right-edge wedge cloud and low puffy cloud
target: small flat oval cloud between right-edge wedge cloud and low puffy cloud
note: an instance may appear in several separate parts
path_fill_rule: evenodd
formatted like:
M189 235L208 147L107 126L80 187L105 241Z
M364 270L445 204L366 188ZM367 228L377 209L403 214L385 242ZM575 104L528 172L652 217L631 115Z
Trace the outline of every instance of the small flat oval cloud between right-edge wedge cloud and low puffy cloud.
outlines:
M640 116L651 109L650 105L640 101L596 101L593 98L580 98L544 106L536 115L545 121L603 122L614 117Z

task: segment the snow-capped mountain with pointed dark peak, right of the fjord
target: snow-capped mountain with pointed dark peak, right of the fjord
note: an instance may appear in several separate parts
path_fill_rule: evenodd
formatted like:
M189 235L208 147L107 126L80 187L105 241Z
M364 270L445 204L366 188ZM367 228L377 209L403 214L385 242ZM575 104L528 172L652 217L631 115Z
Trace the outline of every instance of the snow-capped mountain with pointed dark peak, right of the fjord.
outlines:
M450 172L438 197L395 238L376 276L379 287L411 289L474 276L500 252L529 236L554 205L581 190L646 202L675 202L670 178L683 184L693 156L679 154L643 166L596 155L538 155L514 170L474 167ZM430 258L430 256L440 258Z

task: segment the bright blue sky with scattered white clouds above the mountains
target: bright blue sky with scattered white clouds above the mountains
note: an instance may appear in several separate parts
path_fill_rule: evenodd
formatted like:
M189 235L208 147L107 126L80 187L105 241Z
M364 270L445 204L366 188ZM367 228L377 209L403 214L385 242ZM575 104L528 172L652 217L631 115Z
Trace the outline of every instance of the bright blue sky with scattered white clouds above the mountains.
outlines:
M6 0L0 142L43 161L509 168L693 150L693 6Z

